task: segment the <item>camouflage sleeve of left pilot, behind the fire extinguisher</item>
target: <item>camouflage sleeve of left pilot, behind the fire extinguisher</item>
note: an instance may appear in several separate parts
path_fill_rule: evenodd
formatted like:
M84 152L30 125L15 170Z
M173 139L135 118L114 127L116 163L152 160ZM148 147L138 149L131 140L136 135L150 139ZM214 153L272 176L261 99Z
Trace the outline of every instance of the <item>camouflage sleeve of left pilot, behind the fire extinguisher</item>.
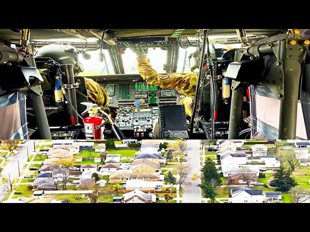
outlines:
M85 79L85 87L87 90L87 97L93 103L97 104L104 109L109 106L109 96L106 90L93 79L86 78Z

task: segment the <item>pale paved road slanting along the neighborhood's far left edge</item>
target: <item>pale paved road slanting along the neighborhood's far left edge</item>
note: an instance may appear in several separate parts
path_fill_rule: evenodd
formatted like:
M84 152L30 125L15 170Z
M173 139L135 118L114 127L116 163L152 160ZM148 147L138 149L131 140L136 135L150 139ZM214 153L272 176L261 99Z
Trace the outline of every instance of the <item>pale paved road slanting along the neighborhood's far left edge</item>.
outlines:
M24 144L21 144L19 146L18 154L14 155L11 158L11 160L7 163L7 165L3 167L3 171L0 175L0 179L2 179L3 176L9 177L9 174L10 174L11 180L13 180L14 178L16 178L18 176L18 163L19 163L19 170L21 171L25 162L28 160L28 158L27 158L27 146L28 146L28 152L30 154L31 151L34 150L33 140L27 140ZM3 187L1 182L0 182L0 189L2 189L2 194L4 191L7 191L7 188L5 188L5 186Z

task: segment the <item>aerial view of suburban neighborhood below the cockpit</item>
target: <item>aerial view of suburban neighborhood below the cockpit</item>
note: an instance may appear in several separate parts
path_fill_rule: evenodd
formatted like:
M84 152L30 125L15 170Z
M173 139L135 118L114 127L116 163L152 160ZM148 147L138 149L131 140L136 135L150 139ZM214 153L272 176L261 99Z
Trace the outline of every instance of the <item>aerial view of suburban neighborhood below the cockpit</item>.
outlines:
M0 143L0 203L310 203L306 140Z

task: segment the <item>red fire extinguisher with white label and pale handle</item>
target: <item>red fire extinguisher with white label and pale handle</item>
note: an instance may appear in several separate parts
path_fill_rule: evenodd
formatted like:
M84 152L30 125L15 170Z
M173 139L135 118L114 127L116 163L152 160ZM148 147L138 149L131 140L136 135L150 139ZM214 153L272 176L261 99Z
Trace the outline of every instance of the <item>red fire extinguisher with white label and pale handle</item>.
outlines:
M82 115L89 114L88 117L83 119L86 139L103 139L103 118L97 114L100 107L89 102L81 102L81 104L87 106Z

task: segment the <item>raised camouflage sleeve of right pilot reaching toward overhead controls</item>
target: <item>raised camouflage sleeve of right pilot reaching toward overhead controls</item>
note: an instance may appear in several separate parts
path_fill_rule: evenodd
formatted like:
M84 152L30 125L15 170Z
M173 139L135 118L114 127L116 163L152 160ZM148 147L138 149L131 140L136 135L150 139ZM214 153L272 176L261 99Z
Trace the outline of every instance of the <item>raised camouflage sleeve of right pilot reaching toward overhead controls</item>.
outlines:
M186 96L195 96L197 86L197 73L167 73L159 74L149 63L148 58L137 58L138 71L142 78L149 84L162 88L175 89Z

